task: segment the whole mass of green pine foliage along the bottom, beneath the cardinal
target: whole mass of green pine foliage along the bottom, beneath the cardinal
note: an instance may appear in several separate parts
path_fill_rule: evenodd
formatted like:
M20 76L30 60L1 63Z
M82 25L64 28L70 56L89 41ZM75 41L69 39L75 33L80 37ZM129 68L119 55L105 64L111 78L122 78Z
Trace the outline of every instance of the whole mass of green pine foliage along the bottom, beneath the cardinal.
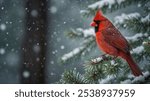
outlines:
M108 59L106 60L106 58ZM94 62L96 62L96 64L93 63L91 64L91 61L93 61L92 59L90 62L88 62L88 65L87 64L85 65L84 74L80 74L79 72L76 71L76 69L65 71L59 83L63 84L150 83L150 73L148 71L144 72L143 76L135 77L132 74L129 75L129 72L125 73L126 68L117 65L116 63L118 61L112 62L112 60L109 59L111 59L110 56L106 56L105 58L96 58L96 60L94 59ZM109 62L111 65L105 66L106 64L108 65L108 63L106 62ZM118 68L116 69L117 71L114 72L118 73L118 76L114 75L113 73L107 74L108 72L112 72L108 70L110 68L113 68L113 70Z

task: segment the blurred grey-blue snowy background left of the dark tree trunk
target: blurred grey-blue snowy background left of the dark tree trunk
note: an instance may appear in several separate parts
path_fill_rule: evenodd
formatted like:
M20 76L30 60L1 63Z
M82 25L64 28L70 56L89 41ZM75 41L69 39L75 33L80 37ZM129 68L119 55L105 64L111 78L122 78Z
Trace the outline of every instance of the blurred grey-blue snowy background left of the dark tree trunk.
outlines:
M23 0L0 0L0 83L19 83Z

